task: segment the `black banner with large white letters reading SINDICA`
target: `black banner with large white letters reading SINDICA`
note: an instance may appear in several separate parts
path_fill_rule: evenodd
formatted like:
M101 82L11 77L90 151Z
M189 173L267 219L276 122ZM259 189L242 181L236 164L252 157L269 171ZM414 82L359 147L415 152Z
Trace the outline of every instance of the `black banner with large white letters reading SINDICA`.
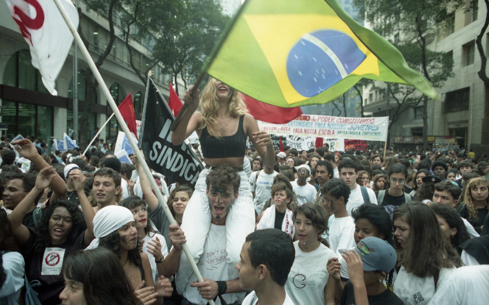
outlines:
M148 77L139 148L143 150L150 168L171 181L194 186L203 167L190 144L172 144L170 126L173 121L175 116Z

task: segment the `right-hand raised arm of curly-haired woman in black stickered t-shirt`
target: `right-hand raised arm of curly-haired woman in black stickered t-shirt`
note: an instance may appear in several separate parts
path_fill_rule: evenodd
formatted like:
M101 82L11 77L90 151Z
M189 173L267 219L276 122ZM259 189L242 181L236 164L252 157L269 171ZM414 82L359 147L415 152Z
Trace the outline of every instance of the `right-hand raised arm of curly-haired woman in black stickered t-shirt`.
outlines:
M73 179L73 186L82 206L83 218L85 218L85 223L87 224L87 230L85 230L85 234L83 235L83 242L88 246L95 239L95 235L93 235L93 218L95 217L95 212L83 190L87 177L85 177L82 171L75 169L69 172L68 179Z

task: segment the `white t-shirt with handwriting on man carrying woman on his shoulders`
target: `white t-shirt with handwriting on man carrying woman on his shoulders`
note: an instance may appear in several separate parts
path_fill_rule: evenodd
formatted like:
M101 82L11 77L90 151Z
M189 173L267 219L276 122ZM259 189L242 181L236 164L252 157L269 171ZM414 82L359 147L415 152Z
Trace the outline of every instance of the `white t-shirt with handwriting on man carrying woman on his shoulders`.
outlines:
M216 225L211 223L207 239L204 244L204 252L197 262L202 278L211 279L213 281L228 281L229 278L228 266L226 263L226 226ZM190 278L190 283L197 281L195 274ZM189 302L199 305L206 305L208 300L202 299L199 290L195 287L187 287L183 292ZM235 293L226 293L222 295L227 304L233 304L238 300ZM216 299L216 305L220 305L219 298Z

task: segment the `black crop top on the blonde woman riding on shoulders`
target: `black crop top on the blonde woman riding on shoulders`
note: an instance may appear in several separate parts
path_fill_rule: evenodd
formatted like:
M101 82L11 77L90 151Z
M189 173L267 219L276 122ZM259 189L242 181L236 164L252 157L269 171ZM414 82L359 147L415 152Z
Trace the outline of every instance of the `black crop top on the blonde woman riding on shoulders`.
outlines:
M244 115L240 116L238 131L233 135L217 138L209 134L207 126L200 134L200 147L204 158L244 157L246 135L243 128Z

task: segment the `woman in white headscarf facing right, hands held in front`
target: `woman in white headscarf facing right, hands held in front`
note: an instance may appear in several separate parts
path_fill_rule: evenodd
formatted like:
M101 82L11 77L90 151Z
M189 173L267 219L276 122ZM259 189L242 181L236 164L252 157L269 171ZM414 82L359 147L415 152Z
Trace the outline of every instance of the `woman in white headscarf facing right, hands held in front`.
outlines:
M162 304L163 297L171 296L173 289L167 288L171 287L168 279L161 276L156 284L153 280L149 258L142 251L133 213L129 209L118 205L102 208L93 218L93 232L96 239L88 248L102 247L111 250L141 300L143 292L151 292L151 297L148 298L152 301L149 304Z

